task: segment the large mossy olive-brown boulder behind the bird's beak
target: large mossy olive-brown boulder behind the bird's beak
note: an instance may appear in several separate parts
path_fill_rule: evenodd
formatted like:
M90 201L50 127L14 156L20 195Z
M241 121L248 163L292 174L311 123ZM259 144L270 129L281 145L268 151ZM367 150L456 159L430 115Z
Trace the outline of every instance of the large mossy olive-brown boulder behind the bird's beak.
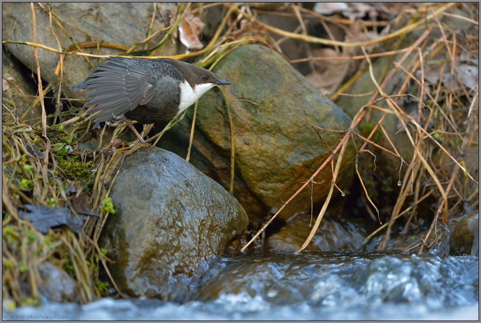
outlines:
M260 45L241 46L219 61L215 75L229 80L223 88L232 115L235 147L234 196L251 220L279 208L309 179L329 156L314 129L297 114L317 126L344 130L351 120L332 101L321 97L307 80L278 53ZM193 109L174 127L170 148L187 153ZM214 88L199 100L190 162L225 188L230 185L231 130L224 98ZM307 131L306 131L307 130ZM321 131L334 149L343 134ZM346 150L338 177L341 188L349 187L353 175L353 149ZM314 204L323 201L332 178L330 166L314 178ZM311 192L305 189L279 214L309 210Z

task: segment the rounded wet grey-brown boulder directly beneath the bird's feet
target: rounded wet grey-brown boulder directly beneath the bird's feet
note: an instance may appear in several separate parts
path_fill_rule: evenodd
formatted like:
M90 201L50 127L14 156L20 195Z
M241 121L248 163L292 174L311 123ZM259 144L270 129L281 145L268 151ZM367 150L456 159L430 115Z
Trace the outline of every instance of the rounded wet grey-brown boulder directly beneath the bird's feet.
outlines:
M158 147L127 156L112 186L100 244L116 263L119 288L132 296L182 301L189 277L247 227L229 193L179 156Z

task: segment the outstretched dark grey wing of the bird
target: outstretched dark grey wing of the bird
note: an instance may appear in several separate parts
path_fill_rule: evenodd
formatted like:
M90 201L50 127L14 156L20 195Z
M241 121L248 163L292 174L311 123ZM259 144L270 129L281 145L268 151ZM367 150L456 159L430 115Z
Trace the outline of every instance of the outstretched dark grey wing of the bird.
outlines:
M85 106L95 105L87 110L87 113L99 112L93 116L95 122L121 117L154 96L157 76L135 68L130 60L109 57L97 64L98 67L85 81L72 87L93 90L87 95L89 101Z

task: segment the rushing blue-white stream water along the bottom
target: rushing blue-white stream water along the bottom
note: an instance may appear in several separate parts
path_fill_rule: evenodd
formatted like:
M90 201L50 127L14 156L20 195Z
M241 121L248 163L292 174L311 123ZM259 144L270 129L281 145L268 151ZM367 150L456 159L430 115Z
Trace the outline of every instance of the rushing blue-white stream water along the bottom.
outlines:
M475 256L256 253L222 255L206 265L182 304L145 298L46 302L3 309L3 319L479 320Z

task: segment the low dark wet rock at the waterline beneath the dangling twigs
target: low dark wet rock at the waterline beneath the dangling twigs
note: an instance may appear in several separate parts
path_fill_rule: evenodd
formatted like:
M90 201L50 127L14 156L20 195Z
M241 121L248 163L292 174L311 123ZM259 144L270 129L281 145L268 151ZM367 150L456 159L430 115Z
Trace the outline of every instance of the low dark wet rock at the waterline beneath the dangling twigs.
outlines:
M314 218L313 225L315 221ZM270 252L294 252L309 236L312 229L309 224L310 214L296 216L267 239L267 249ZM346 220L335 222L324 218L306 250L321 252L357 250L365 237L356 227L359 226Z

